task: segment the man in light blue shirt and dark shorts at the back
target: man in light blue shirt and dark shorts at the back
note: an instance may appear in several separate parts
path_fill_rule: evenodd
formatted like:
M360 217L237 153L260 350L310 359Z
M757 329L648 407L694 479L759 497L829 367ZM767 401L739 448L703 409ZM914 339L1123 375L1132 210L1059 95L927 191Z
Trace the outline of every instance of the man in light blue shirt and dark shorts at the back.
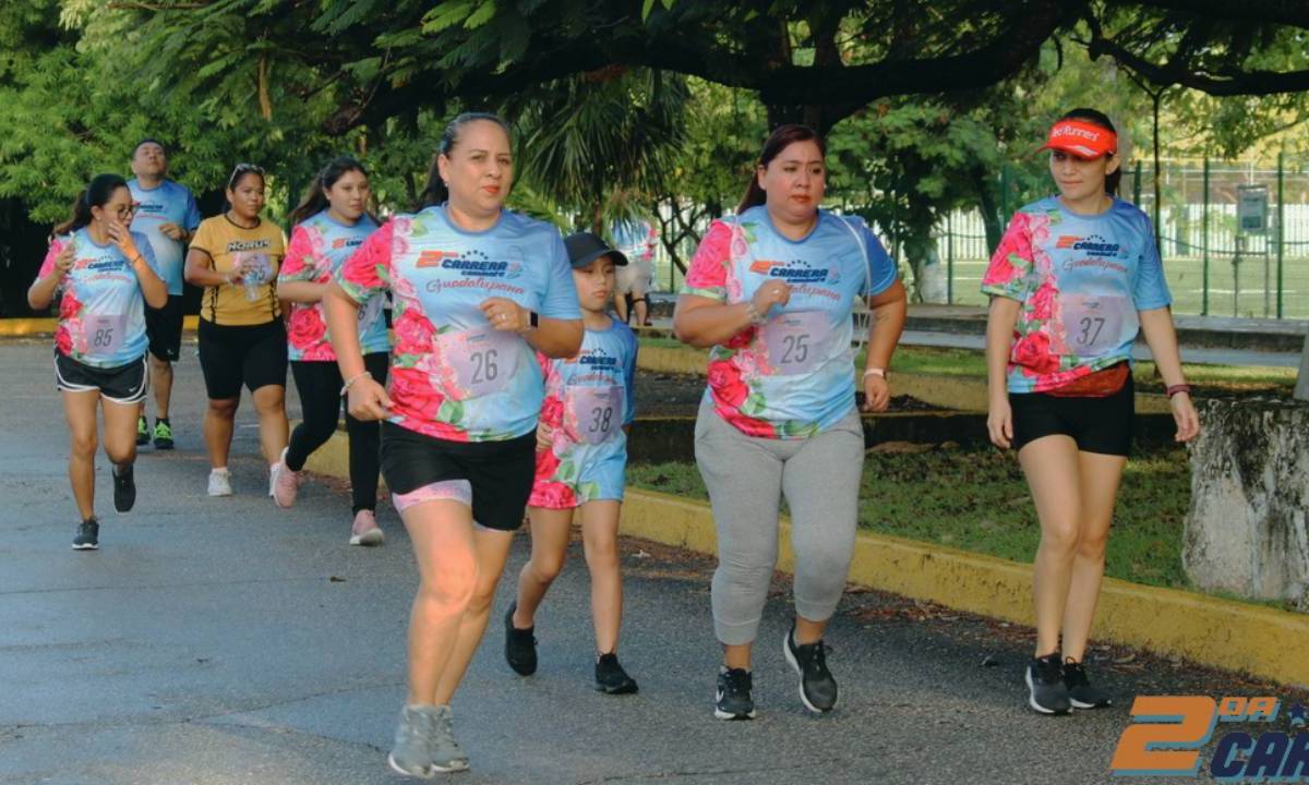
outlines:
M154 382L154 429L145 421L145 410L136 424L136 444L154 440L154 449L173 449L173 425L168 408L173 395L173 362L182 348L182 268L186 245L200 225L200 211L191 191L168 179L168 152L156 139L143 139L132 152L132 174L127 187L132 191L136 213L132 232L145 236L154 250L160 276L168 284L168 305L145 307L145 331L149 335L151 377Z

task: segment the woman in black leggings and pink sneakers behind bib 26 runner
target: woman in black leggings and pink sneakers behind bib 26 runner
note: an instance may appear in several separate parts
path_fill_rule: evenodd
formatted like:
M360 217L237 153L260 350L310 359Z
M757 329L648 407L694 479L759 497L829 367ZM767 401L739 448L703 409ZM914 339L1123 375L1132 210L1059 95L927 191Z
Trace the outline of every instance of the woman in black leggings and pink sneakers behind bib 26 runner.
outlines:
M291 375L300 391L304 420L291 433L276 472L274 500L284 508L296 501L305 461L331 437L340 419L343 381L327 334L322 300L332 275L377 229L377 221L368 213L369 196L368 171L355 158L342 157L323 167L291 213L293 228L287 258L278 275L278 296L291 302L287 353ZM359 315L364 366L380 383L386 382L390 360L390 340L382 315L385 300L381 292L369 297ZM381 427L346 412L346 433L350 436L350 484L353 495L350 544L380 546L384 538L374 510Z

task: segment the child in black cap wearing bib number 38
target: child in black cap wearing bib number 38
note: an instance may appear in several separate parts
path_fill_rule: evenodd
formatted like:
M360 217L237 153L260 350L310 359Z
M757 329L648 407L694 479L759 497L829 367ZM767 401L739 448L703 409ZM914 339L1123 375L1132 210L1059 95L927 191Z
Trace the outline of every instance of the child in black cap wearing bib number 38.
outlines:
M564 239L586 336L567 360L538 355L546 400L537 425L537 481L528 501L531 559L518 574L518 599L504 615L504 655L518 674L537 670L534 619L568 555L573 510L581 509L583 551L590 570L596 627L596 689L636 692L618 663L623 582L618 570L618 514L627 484L627 429L635 413L636 335L606 310L614 267L627 258L589 232Z

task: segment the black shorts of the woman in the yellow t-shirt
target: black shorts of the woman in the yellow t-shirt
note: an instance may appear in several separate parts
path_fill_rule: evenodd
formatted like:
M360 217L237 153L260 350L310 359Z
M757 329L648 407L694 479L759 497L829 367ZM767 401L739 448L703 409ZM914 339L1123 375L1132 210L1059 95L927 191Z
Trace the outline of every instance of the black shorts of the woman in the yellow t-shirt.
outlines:
M200 369L209 400L241 396L267 385L287 386L287 327L281 319L228 326L200 319Z

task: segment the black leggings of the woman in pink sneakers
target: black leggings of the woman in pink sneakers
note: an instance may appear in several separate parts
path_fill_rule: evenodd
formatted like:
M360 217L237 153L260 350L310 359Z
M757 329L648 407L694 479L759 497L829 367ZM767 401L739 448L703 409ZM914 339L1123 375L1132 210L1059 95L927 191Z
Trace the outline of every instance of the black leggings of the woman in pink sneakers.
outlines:
M364 368L373 374L380 385L386 383L386 368L390 355L373 352L364 355ZM291 432L287 445L287 467L300 471L309 455L323 446L336 432L340 420L340 368L335 362L292 362L291 375L300 391L300 410L304 421ZM377 508L377 474L381 449L381 429L377 423L364 423L346 412L346 433L350 436L350 485L353 496L353 509L372 510Z

